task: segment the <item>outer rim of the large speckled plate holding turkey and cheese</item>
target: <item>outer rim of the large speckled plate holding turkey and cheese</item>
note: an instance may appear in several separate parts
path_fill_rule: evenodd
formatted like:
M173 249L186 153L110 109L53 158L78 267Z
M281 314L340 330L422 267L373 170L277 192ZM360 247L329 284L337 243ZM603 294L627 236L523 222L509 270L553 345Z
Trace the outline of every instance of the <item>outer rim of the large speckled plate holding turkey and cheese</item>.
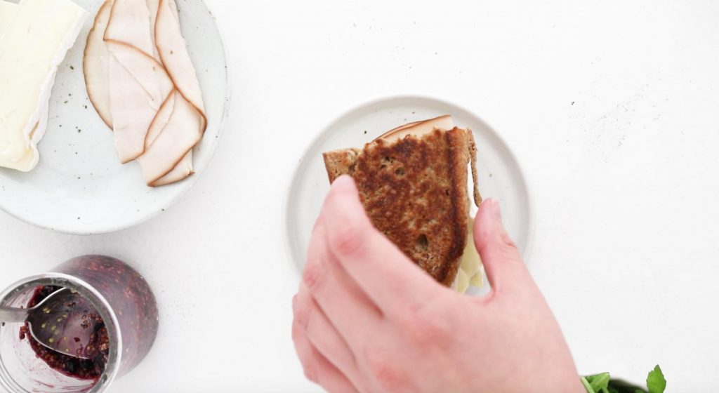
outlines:
M205 172L207 168L209 167L210 163L212 162L212 157L214 157L215 151L217 149L217 145L219 144L219 141L222 138L222 135L224 134L225 124L227 119L229 118L229 108L230 104L232 103L232 81L231 81L231 71L229 67L229 52L227 45L225 45L225 34L224 30L221 27L221 23L219 20L215 17L214 13L210 9L209 6L207 6L206 1L204 0L197 0L200 1L206 9L209 11L210 17L213 20L215 27L217 29L217 33L220 38L220 47L222 50L222 54L224 55L225 64L224 64L224 75L226 80L226 93L225 93L225 100L224 100L224 106L222 107L222 116L219 120L218 129L217 129L217 135L215 139L215 142L210 144L209 147L207 147L208 151L208 158L206 165L203 167L201 173ZM181 21L180 21L181 22ZM78 37L78 42L80 42L82 37ZM83 81L84 83L84 81ZM93 108L93 111L95 109ZM180 185L180 189L178 190L175 195L173 195L172 198L170 198L167 203L164 203L162 205L158 205L157 209L154 209L150 213L145 214L144 216L139 216L137 219L129 220L124 223L115 224L113 226L95 226L91 228L69 228L69 227L55 227L47 225L46 223L42 223L37 220L32 220L31 218L24 218L19 216L19 214L14 213L13 211L10 211L3 203L0 203L0 211L4 211L8 216L11 216L12 218L17 219L18 221L22 221L23 223L28 223L32 226L36 226L37 228L42 228L47 231L55 232L58 234L68 234L68 235L101 235L101 234L111 234L114 232L123 231L124 229L132 228L134 226L138 226L139 224L145 223L147 221L150 221L152 218L155 218L163 211L168 210L170 206L175 205L177 200L185 195L197 182L198 178L200 177L201 173L192 175L188 179L186 179L186 182L184 182L183 185ZM87 227L87 226L86 226Z

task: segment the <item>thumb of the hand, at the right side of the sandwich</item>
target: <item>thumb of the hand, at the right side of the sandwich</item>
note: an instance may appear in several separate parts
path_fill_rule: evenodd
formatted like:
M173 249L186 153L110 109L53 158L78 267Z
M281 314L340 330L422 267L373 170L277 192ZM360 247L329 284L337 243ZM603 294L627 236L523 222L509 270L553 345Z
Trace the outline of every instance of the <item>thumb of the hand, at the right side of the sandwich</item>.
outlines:
M480 205L474 235L475 246L493 292L501 292L503 287L523 285L528 272L517 246L505 231L497 200L490 198Z

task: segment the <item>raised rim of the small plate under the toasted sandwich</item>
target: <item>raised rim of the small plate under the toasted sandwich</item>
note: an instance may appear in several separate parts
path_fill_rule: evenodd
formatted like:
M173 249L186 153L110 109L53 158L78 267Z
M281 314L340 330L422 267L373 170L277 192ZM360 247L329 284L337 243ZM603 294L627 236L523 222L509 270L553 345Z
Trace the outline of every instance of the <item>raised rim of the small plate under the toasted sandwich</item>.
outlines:
M339 121L342 121L342 119L354 114L357 111L362 110L363 108L376 106L377 104L383 103L385 101L401 101L401 100L408 100L408 101L426 101L426 102L434 102L439 103L444 106L454 106L456 108L459 108L459 110L466 112L467 114L470 114L471 116L475 117L478 121L480 121L480 124L482 126L485 126L486 129L492 132L492 134L498 139L498 141L503 144L508 152L508 157L514 162L518 169L518 175L519 178L524 185L524 188L526 190L526 200L527 200L527 221L528 221L528 231L527 231L527 238L526 238L526 246L524 251L522 252L521 256L524 261L524 264L526 266L529 266L529 262L531 260L531 256L533 254L533 246L534 246L534 234L536 230L536 209L534 208L534 198L531 193L531 185L527 180L525 170L523 169L523 166L518 159L517 155L514 153L514 150L511 149L511 145L508 144L507 139L500 134L500 132L497 131L493 126L491 126L485 119L483 119L481 116L478 116L475 114L474 111L470 111L465 106L460 105L458 103L455 103L453 101L446 100L445 98L437 98L434 96L424 95L424 94L416 94L416 93L406 93L406 94L394 94L390 96L377 96L375 98L372 98L367 101L362 101L359 104L355 104L354 106L349 107L349 109L346 109L342 111L339 115L334 116L331 118L331 121L325 124L320 131L314 135L314 137L311 139L311 142L307 144L307 146L303 149L300 157L300 164L297 165L295 170L292 172L292 177L290 179L290 186L285 192L285 200L283 203L283 214L282 217L284 218L284 227L285 230L283 236L285 239L283 241L283 244L285 245L285 253L288 255L290 262L294 265L295 273L297 277L301 276L302 270L300 267L300 264L295 259L295 253L293 251L293 244L292 244L292 234L290 232L290 226L288 223L290 222L290 205L293 203L293 199L291 198L294 194L294 191L298 187L298 174L301 170L305 169L305 167L308 165L307 160L303 159L307 156L307 154L310 152L311 149L314 147L317 147L319 145L320 139L324 137L327 132L330 131L331 127L335 124L339 123Z

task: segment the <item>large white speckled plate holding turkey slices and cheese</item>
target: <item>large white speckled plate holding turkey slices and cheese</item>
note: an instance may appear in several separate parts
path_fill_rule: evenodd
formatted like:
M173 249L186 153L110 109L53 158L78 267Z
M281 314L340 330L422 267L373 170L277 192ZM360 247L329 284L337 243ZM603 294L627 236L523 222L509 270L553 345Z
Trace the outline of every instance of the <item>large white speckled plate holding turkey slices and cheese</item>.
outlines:
M0 208L29 223L69 234L100 234L154 216L188 190L214 152L229 108L221 34L202 0L178 0L180 24L197 70L209 119L194 150L195 175L148 188L136 162L120 165L112 131L96 114L83 78L83 51L103 1L75 0L91 13L60 65L50 98L50 122L39 144L40 164L29 173L0 168Z

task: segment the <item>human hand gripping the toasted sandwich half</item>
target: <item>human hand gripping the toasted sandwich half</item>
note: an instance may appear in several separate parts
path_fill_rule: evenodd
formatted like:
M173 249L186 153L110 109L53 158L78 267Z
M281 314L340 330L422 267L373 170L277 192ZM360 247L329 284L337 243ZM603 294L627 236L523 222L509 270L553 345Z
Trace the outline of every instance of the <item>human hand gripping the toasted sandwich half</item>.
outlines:
M585 392L496 201L474 233L484 297L435 282L372 226L352 179L335 180L293 299L307 378L329 392Z

